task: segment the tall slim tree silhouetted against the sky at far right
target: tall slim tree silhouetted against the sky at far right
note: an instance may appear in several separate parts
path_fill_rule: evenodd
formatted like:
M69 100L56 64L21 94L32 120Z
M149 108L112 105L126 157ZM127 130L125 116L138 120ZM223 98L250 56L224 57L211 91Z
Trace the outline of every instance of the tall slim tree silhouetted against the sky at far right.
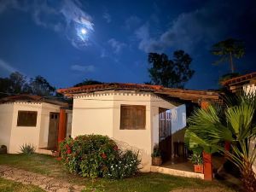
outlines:
M240 59L244 55L244 45L241 40L228 38L212 45L213 55L221 56L215 64L228 61L230 63L231 73L235 72L233 57Z

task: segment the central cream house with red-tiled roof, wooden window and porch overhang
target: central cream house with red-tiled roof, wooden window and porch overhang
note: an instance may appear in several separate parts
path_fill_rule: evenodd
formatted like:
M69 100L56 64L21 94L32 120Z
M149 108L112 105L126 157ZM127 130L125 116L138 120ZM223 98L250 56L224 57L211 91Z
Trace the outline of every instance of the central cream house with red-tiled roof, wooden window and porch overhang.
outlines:
M107 135L121 148L137 149L146 172L150 170L155 143L160 143L166 160L178 153L173 143L183 143L184 103L218 100L218 94L213 91L148 84L95 84L57 91L73 97L72 137Z

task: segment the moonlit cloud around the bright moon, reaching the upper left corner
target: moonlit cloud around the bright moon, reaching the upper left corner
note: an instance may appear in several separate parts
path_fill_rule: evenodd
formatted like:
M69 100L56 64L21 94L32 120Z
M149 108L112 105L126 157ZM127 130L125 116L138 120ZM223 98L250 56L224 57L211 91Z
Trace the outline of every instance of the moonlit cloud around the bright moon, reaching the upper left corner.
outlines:
M8 9L31 14L36 25L64 35L78 49L89 44L88 36L94 31L92 19L79 0L9 0L0 3L0 14ZM81 34L81 28L86 29L86 35Z

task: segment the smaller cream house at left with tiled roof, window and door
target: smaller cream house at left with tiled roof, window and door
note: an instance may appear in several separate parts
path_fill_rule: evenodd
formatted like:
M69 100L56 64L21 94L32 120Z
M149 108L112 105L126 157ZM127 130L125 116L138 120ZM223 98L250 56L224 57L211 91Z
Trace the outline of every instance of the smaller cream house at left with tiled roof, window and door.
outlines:
M18 95L0 100L0 145L8 153L20 153L20 146L31 144L36 152L55 149L58 140L71 134L72 112L67 102L45 99L42 96ZM60 115L62 112L64 115ZM62 117L62 118L61 118ZM64 123L60 120L64 117ZM66 120L65 120L66 119ZM61 133L64 129L64 134ZM62 135L61 135L62 134Z

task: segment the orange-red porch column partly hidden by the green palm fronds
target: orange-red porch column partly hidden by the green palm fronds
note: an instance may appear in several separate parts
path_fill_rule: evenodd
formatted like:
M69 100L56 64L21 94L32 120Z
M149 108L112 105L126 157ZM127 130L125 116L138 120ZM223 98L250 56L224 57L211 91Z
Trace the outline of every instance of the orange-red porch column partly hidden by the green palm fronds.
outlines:
M209 106L209 102L203 101L201 102L201 108L207 109ZM212 154L208 154L205 151L203 152L203 160L204 160L204 176L205 180L212 181Z

